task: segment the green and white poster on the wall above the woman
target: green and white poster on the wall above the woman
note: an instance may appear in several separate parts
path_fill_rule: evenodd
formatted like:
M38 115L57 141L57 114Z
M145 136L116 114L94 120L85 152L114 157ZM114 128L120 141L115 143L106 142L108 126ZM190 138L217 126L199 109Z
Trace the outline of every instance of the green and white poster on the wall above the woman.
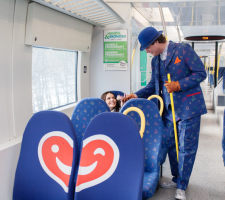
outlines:
M127 30L104 30L104 70L127 70Z

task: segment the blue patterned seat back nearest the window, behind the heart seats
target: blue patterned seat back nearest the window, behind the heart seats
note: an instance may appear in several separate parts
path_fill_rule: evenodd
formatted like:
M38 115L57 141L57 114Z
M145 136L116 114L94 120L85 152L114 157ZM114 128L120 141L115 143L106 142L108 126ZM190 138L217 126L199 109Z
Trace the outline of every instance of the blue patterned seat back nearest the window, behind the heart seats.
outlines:
M98 114L110 112L106 102L98 98L84 98L74 108L71 121L77 134L78 156L80 155L81 141L90 121Z

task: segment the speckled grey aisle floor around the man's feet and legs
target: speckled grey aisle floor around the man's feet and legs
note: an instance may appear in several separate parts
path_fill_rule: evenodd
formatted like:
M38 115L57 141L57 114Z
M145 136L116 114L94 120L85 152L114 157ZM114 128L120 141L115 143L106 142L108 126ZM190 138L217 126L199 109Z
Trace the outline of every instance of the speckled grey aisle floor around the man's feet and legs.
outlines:
M225 200L225 167L222 160L222 130L213 111L202 116L199 148L186 190L187 200ZM171 179L168 158L163 179ZM174 199L175 189L159 188L151 200Z

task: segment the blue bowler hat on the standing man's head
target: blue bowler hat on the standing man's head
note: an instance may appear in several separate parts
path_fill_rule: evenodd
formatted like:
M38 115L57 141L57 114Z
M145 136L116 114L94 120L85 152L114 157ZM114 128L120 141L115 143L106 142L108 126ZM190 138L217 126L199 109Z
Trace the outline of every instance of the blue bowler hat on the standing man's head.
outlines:
M163 31L157 31L153 27L147 27L142 30L138 36L138 40L141 44L140 51L145 50L149 45L157 40Z

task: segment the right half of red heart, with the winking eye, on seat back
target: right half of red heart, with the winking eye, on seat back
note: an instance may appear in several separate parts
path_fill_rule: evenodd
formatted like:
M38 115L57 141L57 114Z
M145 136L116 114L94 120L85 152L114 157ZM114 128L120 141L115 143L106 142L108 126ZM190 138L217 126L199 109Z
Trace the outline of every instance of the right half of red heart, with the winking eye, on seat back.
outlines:
M107 180L117 168L119 149L105 135L94 135L83 141L76 192Z

